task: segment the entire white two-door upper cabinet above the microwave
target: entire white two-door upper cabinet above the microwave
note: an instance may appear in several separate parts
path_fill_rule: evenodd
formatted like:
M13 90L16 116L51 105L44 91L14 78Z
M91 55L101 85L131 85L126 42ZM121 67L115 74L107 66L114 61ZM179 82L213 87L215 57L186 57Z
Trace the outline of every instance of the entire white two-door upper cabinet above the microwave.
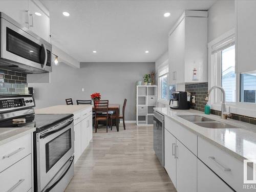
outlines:
M49 11L39 0L1 0L0 11L42 39L50 41Z

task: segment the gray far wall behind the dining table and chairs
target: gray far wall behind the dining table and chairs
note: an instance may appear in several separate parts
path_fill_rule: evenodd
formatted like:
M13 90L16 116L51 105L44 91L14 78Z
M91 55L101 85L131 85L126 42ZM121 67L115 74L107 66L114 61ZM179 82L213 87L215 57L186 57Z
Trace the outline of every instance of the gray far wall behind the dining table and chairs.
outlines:
M90 99L92 93L100 92L102 99L119 103L120 107L126 98L126 120L136 120L135 83L154 69L155 62L81 63L80 69L60 63L53 66L51 83L29 83L29 87L35 90L37 109L66 104L66 98L72 98L73 102L76 99Z

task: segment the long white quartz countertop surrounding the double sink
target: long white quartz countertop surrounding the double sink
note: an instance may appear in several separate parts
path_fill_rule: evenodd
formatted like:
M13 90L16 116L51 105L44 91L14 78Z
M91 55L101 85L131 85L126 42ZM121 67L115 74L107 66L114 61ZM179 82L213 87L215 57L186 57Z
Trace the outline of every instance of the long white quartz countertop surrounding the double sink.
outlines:
M172 118L187 127L188 130L206 139L221 148L233 157L243 161L250 159L256 161L256 125L227 119L223 120L217 115L205 115L196 110L172 110L170 108L154 108L165 117ZM228 123L241 129L209 129L189 122L178 115L202 115L216 121Z

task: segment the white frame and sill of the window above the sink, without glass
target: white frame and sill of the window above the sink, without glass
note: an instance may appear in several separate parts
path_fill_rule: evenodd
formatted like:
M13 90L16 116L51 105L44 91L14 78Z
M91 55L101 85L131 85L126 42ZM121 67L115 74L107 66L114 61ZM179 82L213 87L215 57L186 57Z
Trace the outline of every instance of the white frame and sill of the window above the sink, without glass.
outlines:
M231 29L230 31L208 43L208 89L213 86L221 86L221 66L217 66L216 62L217 59L221 59L221 56L215 58L212 55L212 46L217 45L224 39L227 39L228 37L231 38L232 36L236 37L234 29ZM227 111L228 107L230 106L231 113L256 117L256 103L240 102L240 97L240 74L236 74L236 102L226 102ZM218 102L220 100L220 90L214 90L211 93L210 99L208 101L208 103L211 105L211 109L221 111L221 102Z

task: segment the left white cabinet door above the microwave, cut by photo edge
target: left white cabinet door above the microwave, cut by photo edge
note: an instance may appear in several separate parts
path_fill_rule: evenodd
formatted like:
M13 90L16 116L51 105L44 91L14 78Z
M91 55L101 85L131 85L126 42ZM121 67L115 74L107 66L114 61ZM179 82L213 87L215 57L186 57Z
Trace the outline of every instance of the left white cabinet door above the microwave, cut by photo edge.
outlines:
M20 25L28 28L28 1L1 0L0 11L14 19Z

